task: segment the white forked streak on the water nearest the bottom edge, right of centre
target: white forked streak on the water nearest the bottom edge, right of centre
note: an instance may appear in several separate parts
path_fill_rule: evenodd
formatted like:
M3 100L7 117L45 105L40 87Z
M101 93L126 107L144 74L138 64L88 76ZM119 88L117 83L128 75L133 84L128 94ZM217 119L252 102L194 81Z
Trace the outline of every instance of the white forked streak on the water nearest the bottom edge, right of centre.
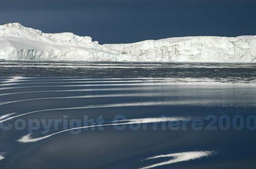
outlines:
M172 164L172 163L176 163L176 162L195 160L195 159L199 159L202 157L210 156L213 153L214 152L212 152L212 151L192 151L192 152L174 153L174 154L166 154L166 155L149 157L149 158L146 158L145 160L151 160L151 159L156 159L156 158L166 158L166 157L169 157L170 159L167 161L153 164L153 165L148 165L148 166L142 167L140 169L148 169L148 168L158 167L158 166Z

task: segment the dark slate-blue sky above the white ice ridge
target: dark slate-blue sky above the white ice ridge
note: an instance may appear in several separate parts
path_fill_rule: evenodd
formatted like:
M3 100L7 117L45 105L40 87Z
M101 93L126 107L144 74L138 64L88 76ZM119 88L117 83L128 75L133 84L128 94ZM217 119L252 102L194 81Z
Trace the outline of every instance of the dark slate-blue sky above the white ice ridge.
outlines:
M103 43L256 35L256 0L1 0L0 24Z

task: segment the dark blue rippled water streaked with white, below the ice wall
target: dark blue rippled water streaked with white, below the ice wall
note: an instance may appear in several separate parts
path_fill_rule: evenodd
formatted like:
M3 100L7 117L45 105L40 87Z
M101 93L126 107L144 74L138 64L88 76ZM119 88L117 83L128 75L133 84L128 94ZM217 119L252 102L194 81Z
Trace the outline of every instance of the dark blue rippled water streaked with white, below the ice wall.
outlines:
M256 64L2 62L0 76L0 168L256 168Z

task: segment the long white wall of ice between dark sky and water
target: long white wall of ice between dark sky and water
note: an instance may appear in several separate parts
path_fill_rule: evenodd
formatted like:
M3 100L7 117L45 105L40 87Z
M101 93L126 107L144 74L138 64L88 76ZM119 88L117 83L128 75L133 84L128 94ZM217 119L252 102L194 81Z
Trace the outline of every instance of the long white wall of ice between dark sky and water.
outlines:
M101 45L88 36L46 34L8 23L0 25L0 60L255 63L256 36L180 37Z

